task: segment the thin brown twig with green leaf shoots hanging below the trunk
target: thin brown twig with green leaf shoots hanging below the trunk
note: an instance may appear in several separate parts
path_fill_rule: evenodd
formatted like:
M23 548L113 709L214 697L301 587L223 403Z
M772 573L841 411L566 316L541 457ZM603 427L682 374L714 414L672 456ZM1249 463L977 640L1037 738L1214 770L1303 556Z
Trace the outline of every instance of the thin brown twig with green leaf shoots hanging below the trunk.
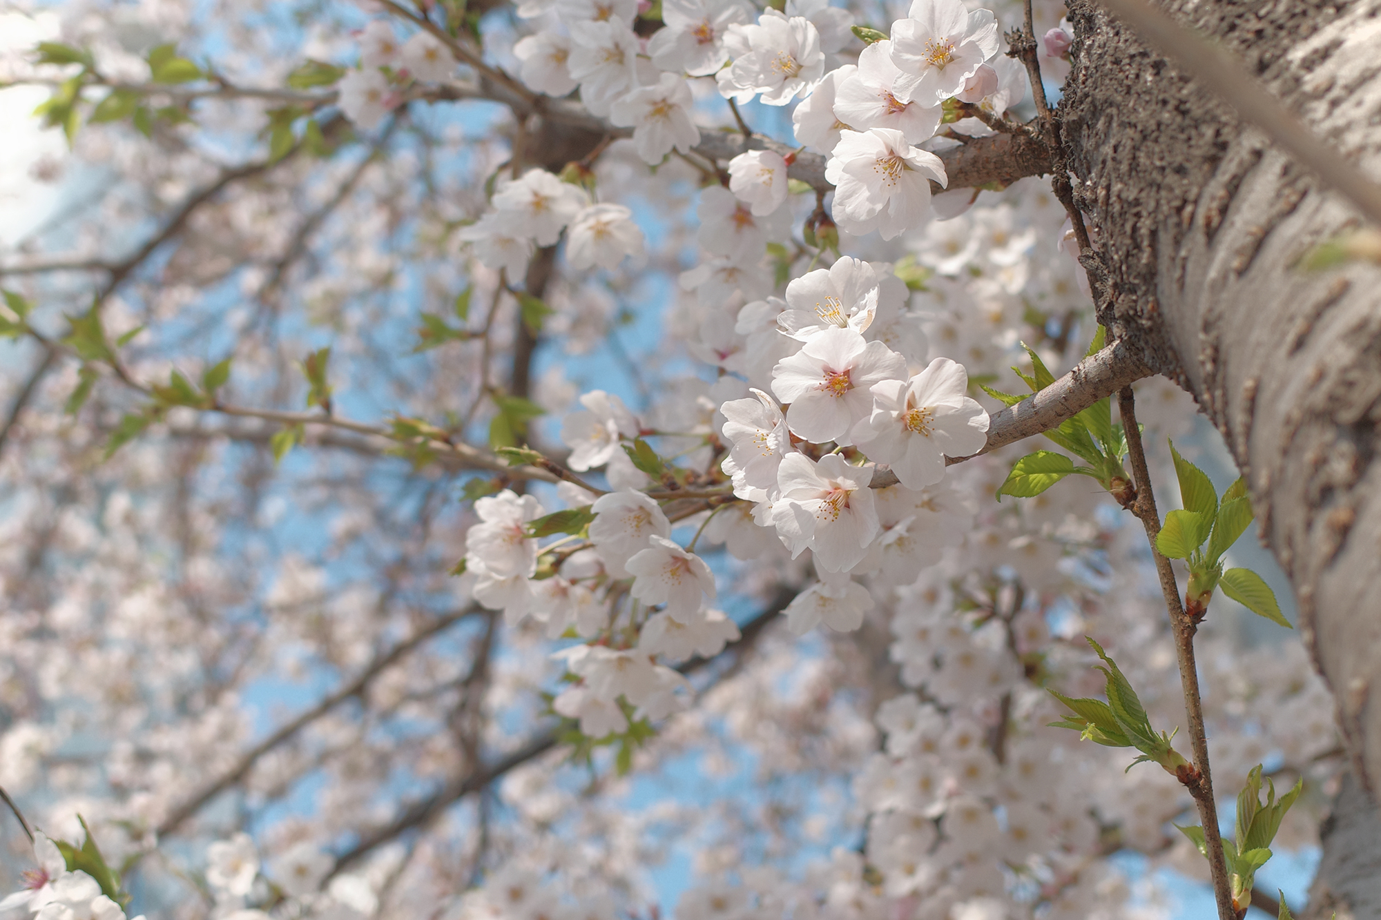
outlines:
M1170 612L1170 627L1175 634L1175 656L1179 659L1179 685L1185 695L1185 711L1189 717L1189 740L1193 745L1196 778L1185 782L1189 794L1199 805L1199 818L1204 829L1204 850L1208 869L1213 874L1214 897L1218 902L1219 920L1236 920L1237 912L1232 903L1232 884L1228 880L1228 863L1222 854L1222 838L1218 834L1218 805L1213 797L1213 776L1208 772L1208 738L1204 732L1203 703L1199 695L1199 670L1195 663L1195 624L1185 613L1179 601L1179 586L1170 559L1156 548L1160 533L1160 512L1156 510L1156 495L1150 485L1150 471L1146 467L1146 452L1141 443L1141 430L1137 427L1137 402L1131 387L1123 387L1117 394L1117 410L1121 414L1123 431L1127 435L1127 456L1131 460L1137 497L1131 512L1141 518L1146 528L1150 554L1156 559L1156 575L1160 576L1160 593L1166 597Z

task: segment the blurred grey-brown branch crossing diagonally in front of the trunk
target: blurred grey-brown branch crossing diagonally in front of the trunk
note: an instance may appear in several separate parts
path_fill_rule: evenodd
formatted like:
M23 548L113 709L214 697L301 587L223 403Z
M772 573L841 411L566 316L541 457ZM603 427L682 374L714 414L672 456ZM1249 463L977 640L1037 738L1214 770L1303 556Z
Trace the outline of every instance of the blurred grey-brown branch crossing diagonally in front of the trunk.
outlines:
M1230 51L1188 29L1145 0L1102 0L1150 46L1210 93L1261 128L1277 146L1312 170L1324 185L1348 198L1381 225L1381 185L1326 144L1271 95Z

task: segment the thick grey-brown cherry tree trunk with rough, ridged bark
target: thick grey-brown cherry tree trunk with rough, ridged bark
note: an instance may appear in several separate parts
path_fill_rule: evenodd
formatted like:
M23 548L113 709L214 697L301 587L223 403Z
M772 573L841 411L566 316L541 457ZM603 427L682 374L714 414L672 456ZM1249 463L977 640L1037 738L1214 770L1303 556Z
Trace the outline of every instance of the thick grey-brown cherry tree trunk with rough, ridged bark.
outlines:
M1301 257L1356 213L1090 0L1061 112L1099 320L1193 394L1251 485L1352 769L1324 833L1340 917L1381 917L1381 269ZM1381 0L1170 0L1381 178ZM1348 858L1344 858L1344 854ZM1331 873L1331 876L1330 876ZM1323 914L1327 916L1327 914Z

